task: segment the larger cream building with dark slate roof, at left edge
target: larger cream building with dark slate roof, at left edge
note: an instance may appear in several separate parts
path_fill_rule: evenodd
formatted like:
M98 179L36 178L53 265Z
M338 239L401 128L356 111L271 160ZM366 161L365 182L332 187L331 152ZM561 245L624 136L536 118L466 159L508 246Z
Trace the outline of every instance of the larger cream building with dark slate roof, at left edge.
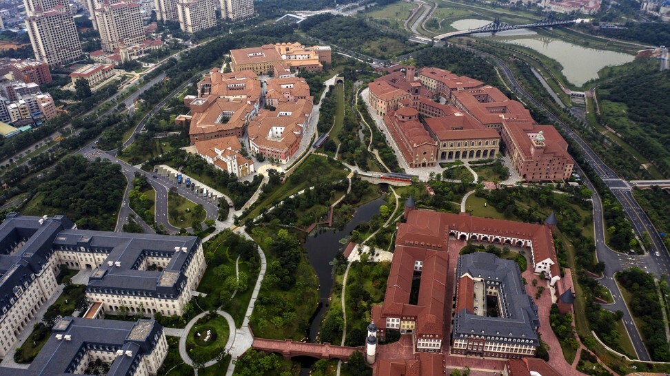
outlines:
M61 266L91 270L104 311L181 315L205 260L195 237L78 230L64 216L10 213L0 224L0 356L57 289Z

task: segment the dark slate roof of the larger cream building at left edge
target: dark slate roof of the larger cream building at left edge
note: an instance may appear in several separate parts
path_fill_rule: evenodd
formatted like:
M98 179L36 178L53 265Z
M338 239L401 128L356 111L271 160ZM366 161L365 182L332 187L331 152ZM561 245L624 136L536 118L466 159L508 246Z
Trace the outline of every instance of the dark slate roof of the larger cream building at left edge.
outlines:
M185 271L200 245L199 238L194 236L114 233L72 227L74 223L64 216L44 219L8 214L0 224L0 312L10 306L15 287L32 280L55 249L83 247L85 252L107 255L92 274L87 291L107 289L126 295L174 298L185 287ZM21 241L25 244L15 250ZM162 272L137 270L143 257L151 253L170 257L170 262ZM110 261L112 265L108 264Z

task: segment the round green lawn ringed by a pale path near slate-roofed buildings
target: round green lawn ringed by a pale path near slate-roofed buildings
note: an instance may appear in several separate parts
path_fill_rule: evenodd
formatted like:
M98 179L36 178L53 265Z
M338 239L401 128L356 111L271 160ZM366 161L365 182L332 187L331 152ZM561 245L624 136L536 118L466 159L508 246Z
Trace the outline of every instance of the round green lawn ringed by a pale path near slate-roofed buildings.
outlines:
M205 341L207 331L210 331L210 338ZM208 320L205 315L188 332L186 351L194 362L210 361L223 351L229 334L230 328L225 317L216 314L216 317Z

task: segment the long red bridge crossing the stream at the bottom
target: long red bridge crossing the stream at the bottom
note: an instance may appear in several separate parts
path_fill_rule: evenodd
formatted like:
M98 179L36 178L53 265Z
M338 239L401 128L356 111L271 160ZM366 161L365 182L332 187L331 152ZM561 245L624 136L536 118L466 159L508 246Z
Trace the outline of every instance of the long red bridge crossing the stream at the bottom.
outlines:
M254 338L252 347L267 353L281 354L284 359L308 356L320 359L347 360L354 351L363 352L363 348L333 346L332 344L307 344L305 342L293 342L293 340L264 340L263 338Z

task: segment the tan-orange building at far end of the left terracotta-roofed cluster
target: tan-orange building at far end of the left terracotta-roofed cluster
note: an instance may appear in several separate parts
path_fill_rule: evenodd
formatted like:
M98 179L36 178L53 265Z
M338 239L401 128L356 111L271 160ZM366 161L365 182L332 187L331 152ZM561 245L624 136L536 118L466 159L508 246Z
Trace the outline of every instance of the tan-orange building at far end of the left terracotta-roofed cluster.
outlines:
M316 72L323 69L322 63L330 63L330 46L305 47L300 43L276 43L261 47L230 50L231 68L234 72L253 70L259 76L272 74L275 65L292 72Z

